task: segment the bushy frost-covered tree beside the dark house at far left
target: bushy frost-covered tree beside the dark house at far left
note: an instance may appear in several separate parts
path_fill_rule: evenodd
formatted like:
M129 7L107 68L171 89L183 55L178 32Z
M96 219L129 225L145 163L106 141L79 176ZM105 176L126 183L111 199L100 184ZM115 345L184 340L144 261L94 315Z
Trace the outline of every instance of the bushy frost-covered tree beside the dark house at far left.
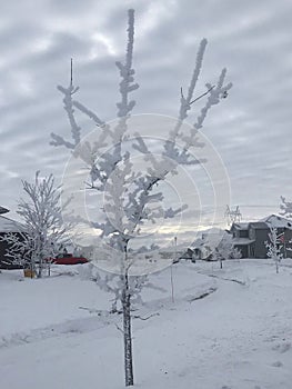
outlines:
M70 242L62 223L61 190L56 187L52 174L40 178L39 171L34 182L23 180L22 186L26 198L18 203L17 213L21 218L19 233L7 233L2 239L9 245L7 257L36 271L41 278L44 268L50 265L46 259L56 257L60 247Z

